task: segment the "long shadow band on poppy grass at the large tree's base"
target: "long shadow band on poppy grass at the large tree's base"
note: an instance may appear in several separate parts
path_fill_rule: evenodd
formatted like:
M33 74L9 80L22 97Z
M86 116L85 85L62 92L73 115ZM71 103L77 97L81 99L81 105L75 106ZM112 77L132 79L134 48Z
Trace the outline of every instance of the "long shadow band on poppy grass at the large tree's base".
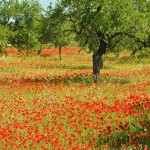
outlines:
M4 80L3 80L4 81ZM92 76L66 76L66 77L45 77L45 78L26 78L26 79L17 79L11 80L11 82L29 82L29 83L48 83L48 84L85 84L85 85L93 85L93 77ZM1 81L0 81L1 82ZM9 84L10 80L5 80L6 83ZM128 84L130 81L125 78L119 77L101 77L100 83L112 83L112 84Z

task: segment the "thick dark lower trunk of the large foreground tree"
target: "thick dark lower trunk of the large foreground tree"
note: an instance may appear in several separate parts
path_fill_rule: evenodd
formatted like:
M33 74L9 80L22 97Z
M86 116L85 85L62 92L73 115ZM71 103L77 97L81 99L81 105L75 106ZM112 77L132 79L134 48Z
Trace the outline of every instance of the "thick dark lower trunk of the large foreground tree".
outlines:
M93 79L94 83L99 83L100 81L100 69L103 66L102 55L99 53L93 54Z

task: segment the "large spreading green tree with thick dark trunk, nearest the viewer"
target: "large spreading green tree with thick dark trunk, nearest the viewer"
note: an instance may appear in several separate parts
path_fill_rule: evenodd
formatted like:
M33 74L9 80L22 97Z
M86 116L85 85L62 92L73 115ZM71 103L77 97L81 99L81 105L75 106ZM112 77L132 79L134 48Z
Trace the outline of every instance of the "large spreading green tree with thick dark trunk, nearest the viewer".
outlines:
M147 24L149 12L139 13L138 2L142 2L142 9L145 9L147 7L145 5L149 3L147 0L61 0L58 2L57 7L61 10L59 12L65 16L63 20L67 19L69 22L68 31L75 33L75 40L79 46L88 47L94 53L95 83L99 82L100 68L103 65L102 57L108 49L117 46L125 48L131 43L136 47L136 38L143 41L148 37L146 32L149 30ZM59 25L54 27L56 32L60 29ZM124 38L130 40L126 42Z

